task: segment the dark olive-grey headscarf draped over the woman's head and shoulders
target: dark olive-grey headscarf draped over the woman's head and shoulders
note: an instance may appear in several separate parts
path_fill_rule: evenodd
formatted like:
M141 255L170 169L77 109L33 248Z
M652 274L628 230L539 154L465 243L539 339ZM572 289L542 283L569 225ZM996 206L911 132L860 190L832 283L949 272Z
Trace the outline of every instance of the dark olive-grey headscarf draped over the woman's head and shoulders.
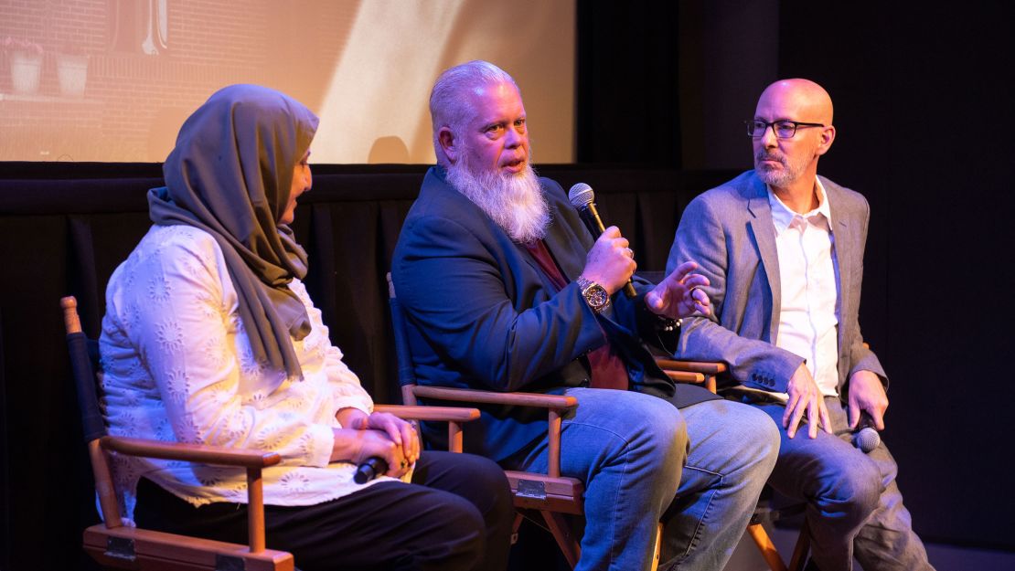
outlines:
M254 357L297 378L290 336L302 339L311 325L288 283L307 275L307 253L278 219L317 126L310 110L274 89L224 87L184 123L162 166L165 187L148 192L152 222L215 237Z

